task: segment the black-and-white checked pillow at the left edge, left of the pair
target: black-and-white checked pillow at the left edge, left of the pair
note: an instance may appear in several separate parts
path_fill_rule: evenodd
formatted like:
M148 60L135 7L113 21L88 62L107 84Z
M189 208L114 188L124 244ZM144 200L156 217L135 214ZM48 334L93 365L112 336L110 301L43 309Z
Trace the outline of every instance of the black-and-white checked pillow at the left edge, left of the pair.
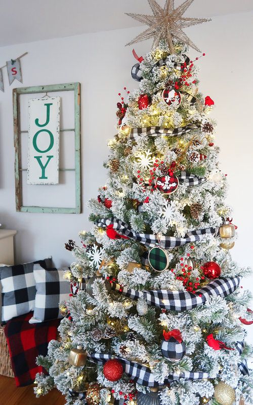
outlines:
M23 265L0 267L2 284L2 322L27 314L34 309L36 294L33 266L51 267L52 259Z

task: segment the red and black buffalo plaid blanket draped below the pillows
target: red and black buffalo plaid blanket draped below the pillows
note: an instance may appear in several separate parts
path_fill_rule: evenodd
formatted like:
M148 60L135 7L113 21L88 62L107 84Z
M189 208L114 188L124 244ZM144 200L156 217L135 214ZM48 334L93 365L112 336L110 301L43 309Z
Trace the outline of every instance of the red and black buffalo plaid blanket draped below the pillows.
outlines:
M59 319L30 324L32 312L7 322L5 335L17 387L32 384L43 367L36 365L38 355L46 356L48 343L56 339Z

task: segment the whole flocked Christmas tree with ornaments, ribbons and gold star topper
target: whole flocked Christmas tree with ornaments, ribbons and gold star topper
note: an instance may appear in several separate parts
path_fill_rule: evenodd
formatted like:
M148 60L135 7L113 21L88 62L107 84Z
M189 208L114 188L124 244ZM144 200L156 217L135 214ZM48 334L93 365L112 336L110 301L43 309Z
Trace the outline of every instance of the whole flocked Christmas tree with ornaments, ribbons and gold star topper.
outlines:
M119 94L92 230L80 232L81 247L66 244L73 296L61 303L61 341L38 358L49 375L37 375L37 396L56 386L68 405L253 404L251 296L240 289L250 270L229 251L214 102L199 91L196 47L182 30L205 21L182 16L192 1L149 0L153 16L131 15L149 25L133 42L154 36L154 46L134 52L139 89Z

